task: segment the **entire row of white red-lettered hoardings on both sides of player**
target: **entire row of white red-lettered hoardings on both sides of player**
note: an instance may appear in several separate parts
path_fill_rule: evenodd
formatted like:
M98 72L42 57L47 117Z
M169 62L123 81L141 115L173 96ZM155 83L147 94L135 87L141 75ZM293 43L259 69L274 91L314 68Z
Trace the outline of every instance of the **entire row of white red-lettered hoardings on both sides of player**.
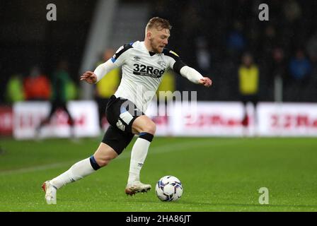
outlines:
M76 137L99 136L94 101L72 101ZM18 102L13 107L13 136L35 138L35 128L50 112L50 102ZM241 102L152 103L146 115L156 123L156 136L317 136L317 104L260 102L255 117L248 104L248 128L243 127ZM42 137L69 137L67 114L57 112L42 128ZM107 124L108 125L108 124Z

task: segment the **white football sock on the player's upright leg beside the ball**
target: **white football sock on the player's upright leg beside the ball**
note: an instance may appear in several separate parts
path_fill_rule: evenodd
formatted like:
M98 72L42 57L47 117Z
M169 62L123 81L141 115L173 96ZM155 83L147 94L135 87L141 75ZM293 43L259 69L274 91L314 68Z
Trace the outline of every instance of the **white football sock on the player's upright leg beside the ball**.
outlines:
M140 180L140 171L144 164L150 144L151 142L146 141L143 138L137 138L137 141L135 141L131 152L129 179L127 180L128 184Z

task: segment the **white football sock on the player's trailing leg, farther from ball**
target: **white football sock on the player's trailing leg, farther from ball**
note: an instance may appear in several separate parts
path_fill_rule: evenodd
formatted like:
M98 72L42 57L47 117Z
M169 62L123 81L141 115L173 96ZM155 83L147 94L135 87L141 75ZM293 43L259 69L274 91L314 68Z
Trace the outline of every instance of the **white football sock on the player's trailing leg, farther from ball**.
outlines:
M88 157L84 160L76 162L66 172L50 180L50 183L59 189L62 186L71 182L76 182L79 179L92 174L93 172L96 172L96 170L91 166L90 157Z

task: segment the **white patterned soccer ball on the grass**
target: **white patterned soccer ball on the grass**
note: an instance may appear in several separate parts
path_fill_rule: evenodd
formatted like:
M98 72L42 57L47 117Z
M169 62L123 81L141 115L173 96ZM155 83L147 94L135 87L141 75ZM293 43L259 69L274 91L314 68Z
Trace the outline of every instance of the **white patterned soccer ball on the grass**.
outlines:
M178 178L165 176L156 183L155 191L161 201L176 201L183 194L183 186Z

